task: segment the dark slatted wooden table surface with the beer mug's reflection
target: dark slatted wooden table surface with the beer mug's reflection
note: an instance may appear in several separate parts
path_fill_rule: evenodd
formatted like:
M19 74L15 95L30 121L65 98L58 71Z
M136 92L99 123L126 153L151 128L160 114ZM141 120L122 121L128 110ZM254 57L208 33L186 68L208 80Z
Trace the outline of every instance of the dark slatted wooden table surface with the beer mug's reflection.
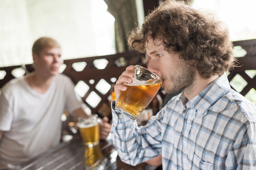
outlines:
M112 142L101 141L99 146L87 148L77 137L21 164L15 170L155 170L157 167L141 163L130 166L120 160Z

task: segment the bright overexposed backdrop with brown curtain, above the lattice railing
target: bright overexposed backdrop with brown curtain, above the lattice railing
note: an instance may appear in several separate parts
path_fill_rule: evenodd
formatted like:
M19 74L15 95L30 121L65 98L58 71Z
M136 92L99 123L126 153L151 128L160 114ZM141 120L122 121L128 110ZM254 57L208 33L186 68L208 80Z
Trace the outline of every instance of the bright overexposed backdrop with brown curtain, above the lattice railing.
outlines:
M150 1L154 0L148 3ZM147 13L144 2L146 0L0 0L0 67L32 63L32 44L42 36L60 42L64 60L126 52L129 50L126 34L133 27L141 26ZM255 0L190 2L196 9L216 14L226 22L231 41L256 39Z

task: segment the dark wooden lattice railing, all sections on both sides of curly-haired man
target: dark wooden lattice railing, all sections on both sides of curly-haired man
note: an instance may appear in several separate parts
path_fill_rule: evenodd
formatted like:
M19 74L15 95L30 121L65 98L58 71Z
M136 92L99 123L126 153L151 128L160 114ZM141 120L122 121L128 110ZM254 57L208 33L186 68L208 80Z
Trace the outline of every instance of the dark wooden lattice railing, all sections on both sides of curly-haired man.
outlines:
M256 39L235 41L234 55L238 57L238 65L229 72L231 87L256 104ZM65 60L63 74L70 76L76 85L76 92L92 113L106 111L109 106L111 85L128 65L141 64L141 54L126 52L113 55ZM21 73L15 75L17 70ZM32 72L33 67L17 65L0 68L0 88L15 77ZM162 97L164 94L159 92ZM104 107L104 108L102 108ZM106 111L106 112L109 112Z

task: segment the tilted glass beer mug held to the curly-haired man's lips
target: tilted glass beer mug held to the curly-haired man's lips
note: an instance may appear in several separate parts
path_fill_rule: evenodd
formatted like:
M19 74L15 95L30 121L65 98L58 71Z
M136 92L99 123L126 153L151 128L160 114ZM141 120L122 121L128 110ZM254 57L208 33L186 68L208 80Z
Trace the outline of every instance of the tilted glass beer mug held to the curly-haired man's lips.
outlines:
M127 89L121 92L115 109L135 120L157 94L162 79L140 65L135 65L133 72L133 82L124 84Z

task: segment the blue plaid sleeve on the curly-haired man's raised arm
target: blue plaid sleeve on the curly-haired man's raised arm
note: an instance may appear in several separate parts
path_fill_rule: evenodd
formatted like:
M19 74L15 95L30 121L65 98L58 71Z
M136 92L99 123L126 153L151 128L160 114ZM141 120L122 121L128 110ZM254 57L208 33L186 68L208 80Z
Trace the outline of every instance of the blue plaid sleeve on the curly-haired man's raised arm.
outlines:
M112 141L122 161L135 166L161 155L162 113L152 116L145 126L138 126L136 120L115 110L115 100L111 107Z

